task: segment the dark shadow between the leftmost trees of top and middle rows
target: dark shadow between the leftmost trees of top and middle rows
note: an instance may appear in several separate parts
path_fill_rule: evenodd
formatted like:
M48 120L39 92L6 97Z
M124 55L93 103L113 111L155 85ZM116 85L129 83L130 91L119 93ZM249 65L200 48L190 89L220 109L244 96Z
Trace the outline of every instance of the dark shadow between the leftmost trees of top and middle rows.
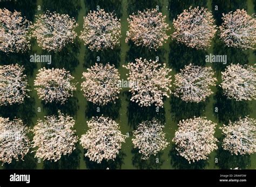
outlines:
M32 51L32 49L24 53L4 53L0 51L0 64L9 65L17 63L24 67L24 74L32 76L33 70L37 68L36 63L30 62L30 55L33 55L34 53L35 52Z

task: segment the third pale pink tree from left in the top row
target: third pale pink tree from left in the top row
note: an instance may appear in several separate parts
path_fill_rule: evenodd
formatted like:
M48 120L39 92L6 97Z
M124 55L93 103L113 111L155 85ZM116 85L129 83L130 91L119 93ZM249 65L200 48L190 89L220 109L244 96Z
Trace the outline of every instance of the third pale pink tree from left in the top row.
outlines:
M117 19L113 12L105 12L104 9L99 11L90 11L84 17L84 30L79 38L84 41L85 45L91 51L100 51L119 45L121 37L120 19Z

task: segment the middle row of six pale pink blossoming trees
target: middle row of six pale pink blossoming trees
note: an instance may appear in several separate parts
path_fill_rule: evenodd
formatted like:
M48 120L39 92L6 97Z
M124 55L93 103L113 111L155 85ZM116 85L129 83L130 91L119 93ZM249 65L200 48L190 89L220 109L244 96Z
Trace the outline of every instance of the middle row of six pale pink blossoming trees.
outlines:
M158 61L136 59L124 66L129 70L127 86L131 92L131 101L139 106L155 105L163 107L164 97L171 93L171 69ZM18 64L0 66L0 105L23 103L30 91L24 68ZM256 65L231 64L221 72L219 86L224 95L234 100L256 99ZM122 81L118 69L109 63L95 66L83 73L81 90L84 97L97 105L114 102L122 90ZM213 91L217 78L211 67L188 64L174 76L174 95L185 102L204 102ZM39 98L45 103L64 104L76 90L74 77L65 69L38 70L34 81Z

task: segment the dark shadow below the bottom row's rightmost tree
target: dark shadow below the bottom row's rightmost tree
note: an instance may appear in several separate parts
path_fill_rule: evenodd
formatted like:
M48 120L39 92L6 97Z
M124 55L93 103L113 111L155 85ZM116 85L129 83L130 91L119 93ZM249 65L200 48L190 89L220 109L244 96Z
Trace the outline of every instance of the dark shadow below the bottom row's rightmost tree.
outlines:
M228 150L224 150L221 147L223 138L218 142L218 149L216 151L216 158L218 163L215 163L220 169L246 169L251 166L250 155L232 155Z

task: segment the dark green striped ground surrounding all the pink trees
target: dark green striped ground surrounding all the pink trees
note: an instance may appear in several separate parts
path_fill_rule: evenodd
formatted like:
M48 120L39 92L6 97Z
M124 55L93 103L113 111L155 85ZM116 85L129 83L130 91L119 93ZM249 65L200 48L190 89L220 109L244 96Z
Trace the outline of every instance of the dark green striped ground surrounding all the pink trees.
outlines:
M214 88L214 94L199 104L185 103L181 99L174 97L165 99L164 108L156 110L156 107L139 107L136 103L130 102L130 93L127 89L123 89L116 104L112 103L105 107L100 107L100 112L97 112L97 106L90 102L86 102L80 91L80 83L82 82L82 73L86 68L96 62L97 56L100 57L100 62L110 62L115 64L119 69L121 78L126 80L127 71L122 67L127 62L134 61L137 57L145 57L147 59L156 59L159 57L160 62L165 62L172 69L172 79L174 74L186 64L193 62L200 66L211 66L216 71L215 76L218 81L221 81L220 71L232 63L254 64L256 60L255 51L241 51L238 49L225 47L218 37L212 42L212 47L207 51L196 51L187 48L183 45L178 45L170 38L167 43L157 52L148 51L143 47L136 47L132 43L125 43L125 35L128 28L127 18L132 12L143 10L146 8L159 8L166 16L166 21L172 26L173 18L176 18L184 9L192 6L204 6L213 11L216 24L221 24L221 14L223 12L234 11L236 9L246 9L251 15L255 11L256 1L253 0L184 0L184 1L167 1L167 0L66 0L66 1L51 1L51 0L28 0L28 1L11 1L0 2L0 8L9 10L21 11L26 18L31 21L35 20L34 15L42 13L45 10L57 11L59 13L67 13L77 19L79 24L77 32L83 29L83 17L89 10L97 8L105 9L106 11L115 11L122 23L122 35L120 47L116 49L91 52L80 41L76 40L74 44L67 45L61 52L48 53L42 51L36 41L32 41L32 49L25 54L9 54L0 53L0 64L19 63L23 64L26 74L29 77L30 98L26 99L21 105L12 105L0 107L0 115L3 117L14 118L15 116L24 120L31 128L36 124L37 119L43 118L46 115L54 114L58 109L64 113L68 113L76 120L77 135L84 134L87 130L86 121L92 116L112 117L120 125L123 134L130 134L126 139L122 149L115 161L105 161L101 164L90 162L84 157L82 146L77 145L77 149L69 156L62 156L58 162L42 161L34 158L34 154L30 153L25 156L24 161L12 162L5 164L2 169L255 169L256 154L236 156L229 152L219 149L209 155L208 160L189 164L183 157L177 155L174 150L174 144L171 142L174 132L177 130L177 124L181 119L191 118L193 116L206 116L207 119L218 123L218 127L227 124L228 120L237 120L240 116L250 115L256 118L256 102L234 102L226 99L223 96L221 89L217 86ZM98 6L98 7L97 7ZM169 32L171 34L172 30ZM33 54L51 54L52 63L31 63L30 55ZM227 64L223 63L206 63L206 54L227 55ZM65 105L50 104L45 105L38 99L33 87L33 80L38 69L46 66L66 68L75 76L78 83L78 89L75 96L72 97ZM167 140L170 145L156 156L151 156L149 160L143 161L140 159L138 150L132 148L131 132L143 120L158 118L165 124L164 131L167 135ZM222 136L220 130L216 130L215 136L221 142Z

